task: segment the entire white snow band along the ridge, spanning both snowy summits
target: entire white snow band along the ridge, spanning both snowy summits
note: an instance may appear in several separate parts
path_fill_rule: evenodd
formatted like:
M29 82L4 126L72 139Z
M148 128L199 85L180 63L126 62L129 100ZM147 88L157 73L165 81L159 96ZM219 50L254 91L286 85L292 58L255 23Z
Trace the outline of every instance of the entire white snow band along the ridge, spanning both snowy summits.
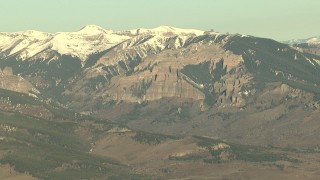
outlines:
M107 50L137 36L154 37L150 39L149 46L156 48L160 46L158 44L163 41L163 38L180 36L185 40L188 37L199 36L204 33L201 30L180 29L170 26L112 31L97 25L87 25L76 32L47 33L34 30L12 33L0 32L0 56L15 55L20 60L26 60L35 55L37 55L37 58L41 57L41 52L45 50L53 50L63 55L78 57L84 63L91 54ZM144 38L142 37L142 39Z

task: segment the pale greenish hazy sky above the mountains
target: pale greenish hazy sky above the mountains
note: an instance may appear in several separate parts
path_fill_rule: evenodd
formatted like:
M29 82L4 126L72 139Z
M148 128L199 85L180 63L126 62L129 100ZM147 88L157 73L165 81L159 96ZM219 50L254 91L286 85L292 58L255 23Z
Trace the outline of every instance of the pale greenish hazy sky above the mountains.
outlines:
M276 40L320 36L320 0L0 0L0 32L168 25Z

